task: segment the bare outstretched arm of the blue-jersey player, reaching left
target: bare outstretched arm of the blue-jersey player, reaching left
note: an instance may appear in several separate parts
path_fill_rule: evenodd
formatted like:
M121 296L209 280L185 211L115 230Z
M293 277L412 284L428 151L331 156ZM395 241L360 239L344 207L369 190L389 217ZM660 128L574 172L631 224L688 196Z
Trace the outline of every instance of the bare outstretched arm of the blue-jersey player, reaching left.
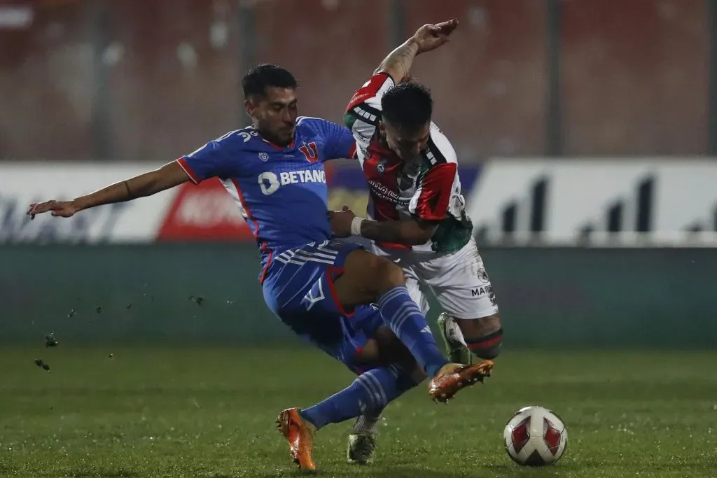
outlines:
M110 184L94 193L80 196L72 201L45 201L30 204L27 214L34 219L36 214L52 211L52 216L70 217L73 214L103 204L120 203L151 196L165 189L174 188L189 181L189 176L177 161L172 161L155 171Z

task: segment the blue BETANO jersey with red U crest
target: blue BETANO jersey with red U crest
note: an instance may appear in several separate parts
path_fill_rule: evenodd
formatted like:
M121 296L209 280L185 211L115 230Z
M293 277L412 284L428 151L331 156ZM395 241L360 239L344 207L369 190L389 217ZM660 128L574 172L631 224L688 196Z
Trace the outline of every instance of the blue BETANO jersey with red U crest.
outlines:
M323 162L352 158L355 150L347 128L303 116L287 148L263 140L250 127L210 141L177 162L195 184L213 177L222 181L257 239L263 282L272 257L331 238Z

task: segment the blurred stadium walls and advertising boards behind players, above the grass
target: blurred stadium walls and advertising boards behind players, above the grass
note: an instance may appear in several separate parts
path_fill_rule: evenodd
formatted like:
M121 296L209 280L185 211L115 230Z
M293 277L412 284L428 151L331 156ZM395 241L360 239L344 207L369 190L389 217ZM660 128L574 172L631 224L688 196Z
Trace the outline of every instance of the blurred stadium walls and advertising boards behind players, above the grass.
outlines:
M389 49L455 15L452 44L414 75L459 154L508 346L714 346L713 4L5 1L0 340L290 337L265 310L255 244L218 181L70 220L31 222L27 204L246 125L239 83L257 62L295 73L300 113L340 123ZM358 166L329 169L331 206L364 210Z

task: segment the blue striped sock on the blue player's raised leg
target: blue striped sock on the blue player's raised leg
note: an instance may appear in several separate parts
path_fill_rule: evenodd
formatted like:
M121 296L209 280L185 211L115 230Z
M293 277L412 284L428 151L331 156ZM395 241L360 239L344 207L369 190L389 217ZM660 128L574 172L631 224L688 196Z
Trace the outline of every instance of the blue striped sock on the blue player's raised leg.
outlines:
M394 287L379 299L379 311L384 322L411 351L429 377L448 363L443 356L426 317L404 286Z

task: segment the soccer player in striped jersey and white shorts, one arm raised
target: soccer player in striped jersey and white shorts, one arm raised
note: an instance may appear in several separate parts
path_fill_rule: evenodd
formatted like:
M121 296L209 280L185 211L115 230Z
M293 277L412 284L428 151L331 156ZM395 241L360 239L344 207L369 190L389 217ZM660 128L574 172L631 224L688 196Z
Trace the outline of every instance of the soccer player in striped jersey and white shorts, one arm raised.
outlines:
M397 262L413 299L428 311L426 290L443 309L440 332L452 360L495 358L503 330L493 285L465 211L455 150L431 120L432 98L410 80L428 32L444 44L457 19L424 25L379 64L351 98L345 121L356 139L358 160L369 184L368 219L348 208L332 213L338 237L364 236L373 252ZM470 350L470 351L469 351ZM349 436L348 459L365 463L376 446L380 410L359 416Z

